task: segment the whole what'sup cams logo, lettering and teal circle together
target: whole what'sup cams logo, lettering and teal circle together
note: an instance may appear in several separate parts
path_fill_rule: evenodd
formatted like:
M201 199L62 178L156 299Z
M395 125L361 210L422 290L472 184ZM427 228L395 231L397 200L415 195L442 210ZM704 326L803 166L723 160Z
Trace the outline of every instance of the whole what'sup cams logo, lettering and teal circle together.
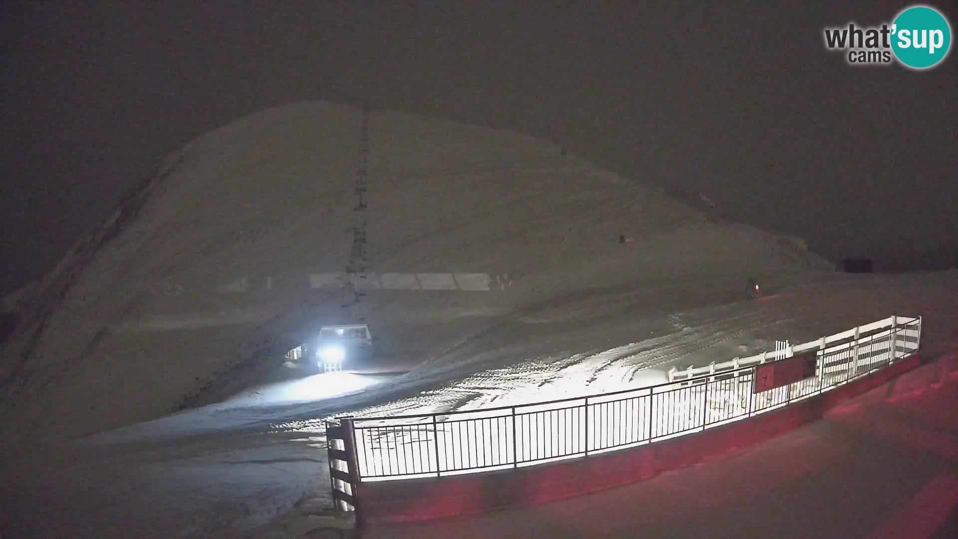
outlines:
M927 69L942 62L951 49L951 26L945 15L927 6L902 10L881 26L826 28L825 47L842 51L852 65L889 64L897 59L911 69Z

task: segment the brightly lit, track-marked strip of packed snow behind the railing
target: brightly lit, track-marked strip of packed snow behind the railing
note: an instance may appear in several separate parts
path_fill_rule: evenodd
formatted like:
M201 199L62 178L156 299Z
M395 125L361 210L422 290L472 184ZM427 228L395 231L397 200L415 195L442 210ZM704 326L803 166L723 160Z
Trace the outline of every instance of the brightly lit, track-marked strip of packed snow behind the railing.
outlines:
M665 382L674 364L724 361L767 348L776 338L817 335L787 329L794 317L779 305L785 296L686 313L627 315L623 303L645 299L642 294L620 296L615 305L582 299L577 308L589 313L580 313L572 323L547 320L569 316L567 311L540 309L402 375L343 372L271 382L221 403L95 438L155 439L264 427L322 431L322 419L337 414L463 410L602 393Z

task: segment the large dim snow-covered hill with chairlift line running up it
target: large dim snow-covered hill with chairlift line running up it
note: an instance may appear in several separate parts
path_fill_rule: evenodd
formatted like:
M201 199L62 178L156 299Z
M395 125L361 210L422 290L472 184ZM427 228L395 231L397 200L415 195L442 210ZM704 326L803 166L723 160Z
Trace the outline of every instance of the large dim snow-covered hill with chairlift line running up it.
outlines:
M748 275L788 283L831 269L796 242L707 217L552 144L373 111L371 270L489 273L497 285L372 291L344 308L341 291L310 289L308 274L343 271L349 259L360 121L350 106L286 105L171 157L129 202L135 211L105 224L112 232L90 243L95 253L58 273L59 293L34 294L45 299L31 323L4 342L4 442L90 433L225 395L319 325L358 315L382 339L383 362L451 363L494 351L491 330L507 326L545 324L569 350L605 323L578 316L582 301L655 290L644 308L662 312L671 298L739 298ZM222 293L240 278L245 292ZM684 291L690 281L714 286Z

